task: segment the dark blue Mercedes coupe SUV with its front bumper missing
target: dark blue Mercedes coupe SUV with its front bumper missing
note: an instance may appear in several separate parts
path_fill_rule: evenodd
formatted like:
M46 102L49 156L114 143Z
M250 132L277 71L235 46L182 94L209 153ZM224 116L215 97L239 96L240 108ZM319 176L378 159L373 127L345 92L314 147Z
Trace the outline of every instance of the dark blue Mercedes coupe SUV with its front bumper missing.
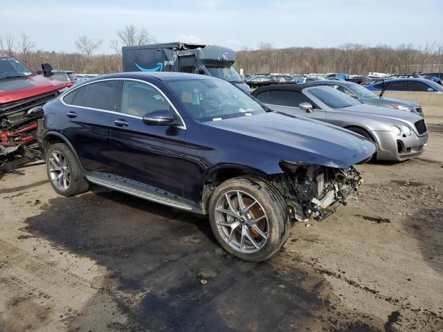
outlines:
M376 151L351 131L270 112L229 82L188 73L73 86L45 105L37 137L58 194L95 183L208 214L221 246L248 261L279 250L291 219L332 214L362 182L352 165Z

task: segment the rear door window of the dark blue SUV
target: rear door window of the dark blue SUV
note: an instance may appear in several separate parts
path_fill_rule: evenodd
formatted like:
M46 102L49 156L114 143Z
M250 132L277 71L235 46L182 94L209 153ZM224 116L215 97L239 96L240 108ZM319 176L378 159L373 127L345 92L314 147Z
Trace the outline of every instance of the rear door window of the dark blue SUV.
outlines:
M120 93L120 81L102 81L88 84L84 107L116 111L116 102Z

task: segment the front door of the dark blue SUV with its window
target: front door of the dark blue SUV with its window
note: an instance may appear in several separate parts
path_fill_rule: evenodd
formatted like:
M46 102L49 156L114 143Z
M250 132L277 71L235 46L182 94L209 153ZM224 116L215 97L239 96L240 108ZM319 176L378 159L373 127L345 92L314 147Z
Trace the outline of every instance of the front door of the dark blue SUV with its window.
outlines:
M147 125L143 116L169 110L181 119L163 93L147 82L125 80L121 113L110 124L113 173L134 185L183 196L183 126ZM141 183L141 184L140 184Z

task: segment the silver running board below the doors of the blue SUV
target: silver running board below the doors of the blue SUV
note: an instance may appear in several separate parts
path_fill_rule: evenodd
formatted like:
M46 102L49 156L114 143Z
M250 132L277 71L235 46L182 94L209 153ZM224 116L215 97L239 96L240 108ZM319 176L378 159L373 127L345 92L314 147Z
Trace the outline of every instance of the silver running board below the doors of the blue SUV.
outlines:
M102 187L107 187L109 189L116 190L118 192L123 192L125 194L136 196L141 199L146 199L147 201L168 205L171 206L172 208L177 208L181 210L188 210L192 212L202 213L202 211L195 206L184 203L182 201L170 199L169 197L165 197L162 194L152 192L150 190L143 190L143 188L136 188L133 185L127 185L125 183L121 183L120 181L114 181L113 179L103 178L102 176L95 176L89 174L86 176L86 178L87 181L94 183L96 185L100 185Z

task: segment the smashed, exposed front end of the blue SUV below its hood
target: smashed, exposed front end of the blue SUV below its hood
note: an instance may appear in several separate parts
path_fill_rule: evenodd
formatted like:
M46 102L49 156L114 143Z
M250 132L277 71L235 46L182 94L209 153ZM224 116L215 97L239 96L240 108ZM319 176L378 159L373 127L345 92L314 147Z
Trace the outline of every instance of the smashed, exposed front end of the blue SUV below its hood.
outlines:
M298 221L325 219L346 205L350 193L363 183L353 166L341 169L282 160L280 167L284 174L274 184L287 201L289 216Z

